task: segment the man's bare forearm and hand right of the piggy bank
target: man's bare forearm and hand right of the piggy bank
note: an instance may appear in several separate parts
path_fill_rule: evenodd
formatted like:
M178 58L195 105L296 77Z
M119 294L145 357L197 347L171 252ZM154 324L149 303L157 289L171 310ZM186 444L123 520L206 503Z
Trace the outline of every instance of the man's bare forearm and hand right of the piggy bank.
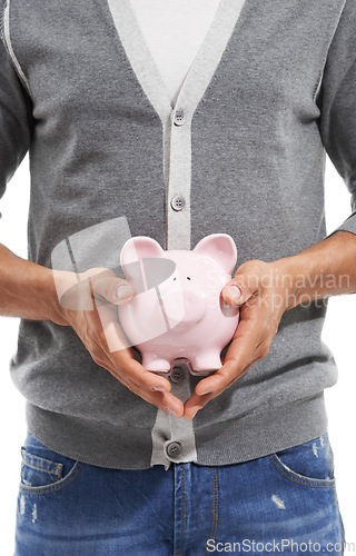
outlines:
M240 321L220 367L201 379L185 403L191 419L210 399L267 356L283 314L301 302L356 291L356 236L337 231L308 249L274 262L241 265L221 295L240 306Z

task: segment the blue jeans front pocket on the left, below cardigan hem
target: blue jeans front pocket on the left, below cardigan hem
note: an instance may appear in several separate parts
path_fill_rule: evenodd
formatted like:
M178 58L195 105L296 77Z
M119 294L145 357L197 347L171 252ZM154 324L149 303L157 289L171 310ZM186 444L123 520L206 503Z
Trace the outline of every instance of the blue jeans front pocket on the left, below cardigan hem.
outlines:
M82 463L47 448L30 433L21 447L20 490L44 494L63 488L79 475Z

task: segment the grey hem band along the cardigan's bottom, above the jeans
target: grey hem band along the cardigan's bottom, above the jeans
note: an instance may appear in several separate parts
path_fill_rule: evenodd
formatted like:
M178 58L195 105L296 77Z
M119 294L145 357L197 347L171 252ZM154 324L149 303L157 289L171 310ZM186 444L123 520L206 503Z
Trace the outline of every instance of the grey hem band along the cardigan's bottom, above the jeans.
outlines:
M221 466L264 457L322 436L327 423L324 391L268 411L228 419L195 431L194 463ZM149 429L132 427L128 434L127 428L48 411L30 403L27 425L44 446L81 463L113 469L151 467ZM179 460L171 458L171 463Z

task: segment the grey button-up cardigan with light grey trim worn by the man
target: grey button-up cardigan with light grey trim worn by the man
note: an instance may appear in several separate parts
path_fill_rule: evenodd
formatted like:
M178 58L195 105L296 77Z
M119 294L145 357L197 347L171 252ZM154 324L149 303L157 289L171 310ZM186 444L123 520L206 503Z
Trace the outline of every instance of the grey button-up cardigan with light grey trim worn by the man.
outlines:
M123 276L128 237L190 249L214 232L235 239L235 270L294 255L326 236L326 151L356 211L355 0L221 0L175 106L128 0L0 7L0 193L29 150L31 260ZM338 229L356 234L356 212ZM31 433L75 459L244 461L326 431L325 310L287 311L267 357L192 421L129 391L50 321L21 320L11 374ZM199 379L182 367L172 391L186 399Z

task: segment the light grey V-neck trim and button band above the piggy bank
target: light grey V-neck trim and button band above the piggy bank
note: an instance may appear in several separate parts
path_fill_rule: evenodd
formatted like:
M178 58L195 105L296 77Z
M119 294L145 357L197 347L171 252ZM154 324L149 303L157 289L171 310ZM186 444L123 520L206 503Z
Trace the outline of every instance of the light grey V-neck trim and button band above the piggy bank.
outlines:
M180 88L176 105L147 48L129 0L108 0L118 37L147 98L160 117L164 128L166 207L182 198L186 210L166 212L165 249L189 249L191 187L191 120L217 70L246 0L221 0L197 57ZM177 126L177 113L184 125Z

